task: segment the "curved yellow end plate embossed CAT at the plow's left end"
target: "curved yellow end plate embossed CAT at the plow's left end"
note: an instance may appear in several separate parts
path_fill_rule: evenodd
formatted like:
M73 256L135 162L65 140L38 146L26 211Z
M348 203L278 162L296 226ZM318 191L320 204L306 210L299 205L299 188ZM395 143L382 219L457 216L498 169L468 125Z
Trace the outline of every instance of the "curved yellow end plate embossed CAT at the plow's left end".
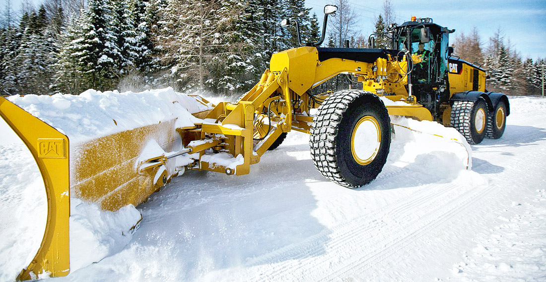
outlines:
M68 137L30 113L0 97L0 116L32 153L48 196L48 221L38 253L17 280L48 272L52 277L70 271L68 218L70 217Z

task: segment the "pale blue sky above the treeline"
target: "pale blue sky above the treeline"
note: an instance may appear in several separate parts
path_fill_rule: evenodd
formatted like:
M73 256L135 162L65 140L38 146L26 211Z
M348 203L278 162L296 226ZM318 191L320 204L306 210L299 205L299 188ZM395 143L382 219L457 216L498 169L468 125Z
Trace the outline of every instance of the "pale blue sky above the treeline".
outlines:
M308 8L317 13L322 22L323 7L332 1L306 0ZM361 33L372 33L375 17L381 13L383 1L349 0L361 15ZM431 17L438 25L455 29L450 42L459 32L468 34L477 27L484 46L498 28L505 39L521 53L523 58L546 58L546 0L462 0L462 1L403 1L391 0L396 23L408 21L412 16Z

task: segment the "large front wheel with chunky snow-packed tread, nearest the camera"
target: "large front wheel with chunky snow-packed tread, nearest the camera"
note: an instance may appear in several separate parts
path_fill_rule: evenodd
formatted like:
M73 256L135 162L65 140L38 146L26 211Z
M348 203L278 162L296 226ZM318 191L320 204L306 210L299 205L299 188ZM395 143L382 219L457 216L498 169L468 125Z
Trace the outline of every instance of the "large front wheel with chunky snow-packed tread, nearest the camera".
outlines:
M383 102L370 92L330 95L318 108L310 133L314 165L342 186L369 184L387 161L390 118Z

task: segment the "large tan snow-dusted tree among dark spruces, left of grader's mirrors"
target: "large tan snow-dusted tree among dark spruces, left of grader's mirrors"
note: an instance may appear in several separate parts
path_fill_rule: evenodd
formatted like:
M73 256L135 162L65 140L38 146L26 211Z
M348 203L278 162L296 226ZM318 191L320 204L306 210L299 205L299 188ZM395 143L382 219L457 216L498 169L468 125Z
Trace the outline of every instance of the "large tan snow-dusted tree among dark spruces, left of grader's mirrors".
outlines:
M235 12L222 2L169 1L161 39L173 63L171 74L182 89L204 91L218 83L211 70L229 53L228 26Z

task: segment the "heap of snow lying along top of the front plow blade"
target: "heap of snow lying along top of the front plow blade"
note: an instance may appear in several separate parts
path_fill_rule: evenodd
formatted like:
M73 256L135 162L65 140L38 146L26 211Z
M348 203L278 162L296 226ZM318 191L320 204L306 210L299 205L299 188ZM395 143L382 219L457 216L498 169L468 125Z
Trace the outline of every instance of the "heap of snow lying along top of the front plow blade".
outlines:
M200 119L191 113L211 109L211 105L176 93L173 88L140 93L89 89L80 95L25 95L9 100L67 135L70 142L84 142L175 118L179 127L192 126Z

